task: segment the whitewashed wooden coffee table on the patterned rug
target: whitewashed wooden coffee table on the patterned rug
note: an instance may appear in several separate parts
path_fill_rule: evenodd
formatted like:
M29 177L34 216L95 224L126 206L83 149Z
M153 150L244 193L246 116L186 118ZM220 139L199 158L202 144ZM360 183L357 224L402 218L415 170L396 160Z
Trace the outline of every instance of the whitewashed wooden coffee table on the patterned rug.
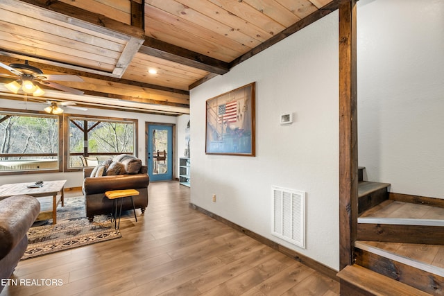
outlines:
M35 183L14 183L14 184L4 184L0 186L0 200L3 198L8 198L12 195L31 195L35 198L39 198L40 201L40 214L37 216L36 221L47 220L53 218L53 224L57 223L57 206L62 203L64 204L65 197L65 182L67 180L58 181L45 181L43 186L37 188L28 188ZM60 193L60 197L58 197ZM51 197L52 198L44 198Z

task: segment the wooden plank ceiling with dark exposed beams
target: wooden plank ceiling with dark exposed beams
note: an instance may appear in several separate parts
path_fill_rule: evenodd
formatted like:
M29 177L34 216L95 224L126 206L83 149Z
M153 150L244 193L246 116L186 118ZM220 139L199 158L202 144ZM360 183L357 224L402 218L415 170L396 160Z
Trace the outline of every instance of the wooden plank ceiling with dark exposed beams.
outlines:
M79 96L39 100L188 114L189 89L336 10L340 0L1 0L0 62L28 63ZM149 73L155 70L156 73ZM5 83L0 98L23 100ZM35 99L34 98L34 99Z

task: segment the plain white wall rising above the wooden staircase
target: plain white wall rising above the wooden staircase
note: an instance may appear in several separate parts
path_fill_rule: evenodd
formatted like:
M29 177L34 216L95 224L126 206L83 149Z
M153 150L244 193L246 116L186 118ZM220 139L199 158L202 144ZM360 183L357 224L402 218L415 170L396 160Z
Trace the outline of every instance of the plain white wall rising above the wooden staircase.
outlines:
M359 166L444 198L444 1L361 0L357 15Z

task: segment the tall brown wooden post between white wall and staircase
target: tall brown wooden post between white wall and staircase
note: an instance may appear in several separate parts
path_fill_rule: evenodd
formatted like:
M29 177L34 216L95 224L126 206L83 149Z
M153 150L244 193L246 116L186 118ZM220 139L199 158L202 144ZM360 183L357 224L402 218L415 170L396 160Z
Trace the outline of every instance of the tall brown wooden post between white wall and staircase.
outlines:
M357 238L356 0L339 5L339 268L355 259Z

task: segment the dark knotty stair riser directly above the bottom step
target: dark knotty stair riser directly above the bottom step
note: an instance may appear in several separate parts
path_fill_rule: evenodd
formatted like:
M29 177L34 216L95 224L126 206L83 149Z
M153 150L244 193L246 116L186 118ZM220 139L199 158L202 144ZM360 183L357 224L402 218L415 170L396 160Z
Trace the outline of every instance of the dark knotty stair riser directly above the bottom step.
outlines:
M433 275L410 265L387 259L361 249L355 249L356 263L404 284L432 295L444 294L444 277ZM342 287L341 287L342 288ZM342 290L341 290L342 292ZM341 294L342 295L342 294Z

